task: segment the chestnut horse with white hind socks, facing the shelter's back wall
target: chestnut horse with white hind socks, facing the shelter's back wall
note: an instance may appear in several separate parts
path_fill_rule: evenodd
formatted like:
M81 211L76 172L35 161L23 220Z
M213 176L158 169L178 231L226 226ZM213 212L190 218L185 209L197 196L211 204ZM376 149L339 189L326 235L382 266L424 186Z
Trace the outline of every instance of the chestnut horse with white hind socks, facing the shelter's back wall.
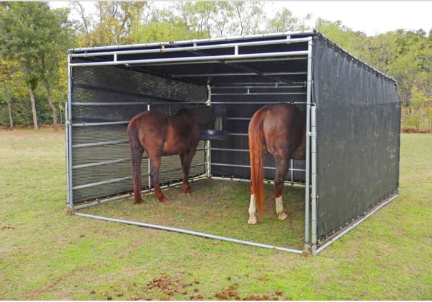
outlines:
M249 123L249 154L251 160L251 203L249 224L263 220L264 210L264 155L270 153L276 161L274 188L276 213L287 219L282 204L282 189L289 168L289 159L305 159L306 120L296 105L278 103L266 105L255 112Z

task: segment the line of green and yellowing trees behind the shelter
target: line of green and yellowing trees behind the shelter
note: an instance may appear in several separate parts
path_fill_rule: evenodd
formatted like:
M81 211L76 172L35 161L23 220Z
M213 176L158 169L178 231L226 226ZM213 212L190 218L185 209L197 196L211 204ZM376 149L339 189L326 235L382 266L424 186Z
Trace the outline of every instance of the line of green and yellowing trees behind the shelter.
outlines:
M310 29L311 15L288 8L271 16L271 3L94 2L52 9L48 2L0 2L0 125L52 123L57 129L67 100L67 50L154 41ZM79 19L72 19L74 12ZM402 126L432 130L432 29L368 36L340 21L312 26L362 61L398 81Z

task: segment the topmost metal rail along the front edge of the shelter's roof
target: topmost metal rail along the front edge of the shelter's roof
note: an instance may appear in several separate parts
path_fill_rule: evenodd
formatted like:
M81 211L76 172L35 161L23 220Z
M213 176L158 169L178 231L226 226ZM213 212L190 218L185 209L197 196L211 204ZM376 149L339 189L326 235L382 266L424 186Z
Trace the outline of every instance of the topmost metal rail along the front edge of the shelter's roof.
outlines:
M317 34L316 30L297 30L287 32L273 32L269 34L250 34L243 36L232 36L232 37L218 37L218 38L207 38L207 39L192 39L182 41L171 41L171 42L152 42L152 43L141 43L141 44L128 44L128 45L116 45L116 46L94 46L88 48L74 48L70 49L69 52L81 52L81 51L93 51L93 50L118 50L125 48L145 48L152 46L176 46L193 43L208 43L208 42L223 42L233 40L248 40L248 39L259 39L259 38L273 38L273 37L287 37L287 36L298 36L298 35L313 35Z

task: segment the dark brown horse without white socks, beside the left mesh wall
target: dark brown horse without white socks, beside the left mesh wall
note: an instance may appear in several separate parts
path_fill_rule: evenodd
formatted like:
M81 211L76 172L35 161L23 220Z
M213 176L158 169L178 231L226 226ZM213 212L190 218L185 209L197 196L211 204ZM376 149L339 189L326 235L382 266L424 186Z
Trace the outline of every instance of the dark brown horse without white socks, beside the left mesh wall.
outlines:
M182 190L190 193L189 168L200 141L203 125L214 121L214 109L205 105L181 108L168 117L155 111L145 111L136 115L127 125L132 161L132 179L134 181L134 203L143 203L141 199L141 159L143 152L150 158L150 177L152 177L156 198L168 199L159 185L159 168L162 155L180 155L183 184Z

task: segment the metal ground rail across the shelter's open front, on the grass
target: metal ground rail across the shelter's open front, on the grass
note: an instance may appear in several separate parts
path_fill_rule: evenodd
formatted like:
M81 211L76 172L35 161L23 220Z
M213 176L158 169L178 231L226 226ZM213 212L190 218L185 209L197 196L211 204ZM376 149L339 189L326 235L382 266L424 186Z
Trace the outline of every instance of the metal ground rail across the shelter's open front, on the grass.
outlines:
M195 231L190 231L190 230L185 230L185 229L179 229L179 228L171 228L171 227L167 227L164 225L156 225L156 224L150 224L150 223L141 223L141 222L136 222L136 221L128 221L128 220L123 220L123 219L114 219L114 218L108 218L108 217L102 217L102 216L96 216L96 215L91 215L91 214L83 214L83 213L75 213L75 215L78 216L82 216L82 217L88 217L88 218L94 218L94 219L101 219L101 220L105 220L105 221L113 221L113 222L118 222L118 223L125 223L125 224L129 224L129 225L138 225L144 228L152 228L152 229L156 229L156 230L164 230L164 231L169 231L169 232L178 232L178 233L182 233L182 234L189 234L189 235L194 235L194 236L200 236L200 237L204 237L204 238L209 238L209 239L216 239L216 240L220 240L220 241L229 241L229 242L234 242L234 243L241 243L244 245L251 245L251 246L256 246L258 248L269 248L271 250L280 250L282 252L292 252L295 254L302 254L301 250L294 250L291 248L281 248L275 245L268 245L268 244L263 244L263 243L255 243L255 242L251 242L251 241L245 241L245 240L240 240L240 239L234 239L234 238L229 238L229 237L223 237L223 236L216 236L216 235L212 235L212 234L207 234L207 233L202 233L202 232L195 232Z

